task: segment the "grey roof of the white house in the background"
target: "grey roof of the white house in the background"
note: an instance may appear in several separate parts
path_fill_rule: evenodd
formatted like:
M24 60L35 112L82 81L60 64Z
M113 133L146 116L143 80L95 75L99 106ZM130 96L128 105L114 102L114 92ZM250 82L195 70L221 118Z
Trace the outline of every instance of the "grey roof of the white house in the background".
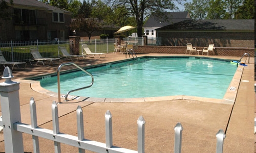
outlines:
M166 19L151 15L143 27L164 27L172 23L190 19L188 12L165 12Z

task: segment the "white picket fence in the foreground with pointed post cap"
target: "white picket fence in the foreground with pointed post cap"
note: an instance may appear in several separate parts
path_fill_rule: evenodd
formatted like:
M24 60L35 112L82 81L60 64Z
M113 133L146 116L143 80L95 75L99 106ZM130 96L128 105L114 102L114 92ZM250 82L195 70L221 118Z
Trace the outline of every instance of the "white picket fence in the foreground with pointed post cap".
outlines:
M21 122L20 117L20 104L19 104L19 83L13 82L11 79L12 71L9 67L6 67L3 73L3 79L5 82L0 83L0 95L1 95L1 107L2 117L0 117L0 126L3 127L4 140L5 140L5 152L18 153L24 152L23 136L22 133L32 135L33 138L33 152L39 152L38 137L52 140L54 142L55 152L61 152L60 144L65 143L78 148L78 152L85 152L85 150L91 150L94 152L145 152L144 137L145 137L145 120L142 116L139 117L138 124L138 150L131 150L113 146L112 137L112 115L110 111L105 113L105 143L88 140L84 138L83 129L83 113L80 106L77 107L77 136L72 136L59 132L59 120L58 120L58 106L55 101L52 104L52 122L53 131L43 129L37 126L36 117L36 105L34 98L30 100L30 116L31 125ZM181 123L177 123L175 130L175 143L174 152L181 152L182 131L183 127ZM225 133L223 130L219 130L216 135L217 147L216 152L221 153L223 151L223 142ZM161 150L159 150L161 152Z

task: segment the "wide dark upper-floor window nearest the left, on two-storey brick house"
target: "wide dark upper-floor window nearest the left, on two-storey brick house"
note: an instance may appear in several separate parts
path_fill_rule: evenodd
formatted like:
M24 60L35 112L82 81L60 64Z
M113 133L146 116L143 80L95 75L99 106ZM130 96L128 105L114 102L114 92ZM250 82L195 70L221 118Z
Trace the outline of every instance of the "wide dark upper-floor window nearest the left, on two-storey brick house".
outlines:
M14 9L14 22L16 24L36 24L35 10Z

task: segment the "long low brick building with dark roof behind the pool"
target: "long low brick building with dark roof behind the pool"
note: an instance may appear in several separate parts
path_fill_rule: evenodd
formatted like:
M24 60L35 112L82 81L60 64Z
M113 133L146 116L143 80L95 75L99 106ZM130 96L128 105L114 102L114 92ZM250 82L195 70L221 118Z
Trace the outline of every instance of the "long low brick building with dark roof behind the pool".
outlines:
M254 47L254 19L184 20L156 32L164 46Z

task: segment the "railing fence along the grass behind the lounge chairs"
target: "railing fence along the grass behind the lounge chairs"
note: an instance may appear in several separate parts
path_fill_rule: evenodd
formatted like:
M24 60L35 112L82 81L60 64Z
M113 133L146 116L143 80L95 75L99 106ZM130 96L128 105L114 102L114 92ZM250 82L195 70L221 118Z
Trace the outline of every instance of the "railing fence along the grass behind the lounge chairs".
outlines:
M141 38L123 38L124 42L133 45L144 45L144 39ZM160 38L149 38L148 45L159 45ZM0 41L0 52L7 62L28 62L32 58L30 48L38 48L40 54L44 58L58 58L58 47L66 46L68 52L72 50L72 40L34 40L34 41ZM93 39L80 40L80 55L82 53L82 45L87 44L92 52L111 53L114 52L114 43L116 39ZM70 52L71 53L71 52Z

